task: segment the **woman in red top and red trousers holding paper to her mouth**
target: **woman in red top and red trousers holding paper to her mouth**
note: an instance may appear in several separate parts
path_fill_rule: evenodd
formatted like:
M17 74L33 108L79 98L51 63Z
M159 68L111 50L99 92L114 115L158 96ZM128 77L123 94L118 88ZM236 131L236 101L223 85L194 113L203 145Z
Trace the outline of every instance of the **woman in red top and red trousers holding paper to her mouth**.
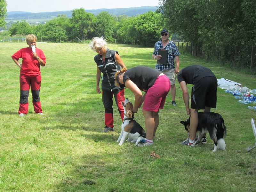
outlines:
M12 60L20 68L20 108L19 116L28 113L28 93L31 86L34 111L44 115L40 103L41 72L40 66L45 66L46 58L44 52L36 47L36 36L26 36L28 47L22 48L12 55ZM32 51L35 48L35 52ZM22 58L22 64L19 59Z

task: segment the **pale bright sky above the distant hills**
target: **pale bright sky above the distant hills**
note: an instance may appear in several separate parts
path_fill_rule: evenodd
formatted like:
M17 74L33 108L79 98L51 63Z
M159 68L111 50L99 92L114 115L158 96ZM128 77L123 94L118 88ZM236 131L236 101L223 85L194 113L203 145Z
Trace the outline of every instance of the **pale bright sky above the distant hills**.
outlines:
M54 12L70 11L83 7L90 9L113 9L141 6L158 6L158 0L6 0L7 12Z

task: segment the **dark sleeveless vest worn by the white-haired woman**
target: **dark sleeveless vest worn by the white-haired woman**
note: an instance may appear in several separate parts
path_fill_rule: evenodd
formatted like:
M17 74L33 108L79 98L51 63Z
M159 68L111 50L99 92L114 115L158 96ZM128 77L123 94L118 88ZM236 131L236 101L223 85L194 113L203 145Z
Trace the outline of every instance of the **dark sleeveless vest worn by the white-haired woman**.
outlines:
M115 74L121 69L121 66L119 66L115 60L116 53L118 54L117 51L107 49L105 64L100 54L94 57L94 61L102 73L101 89L103 91L116 91L124 88L124 85L121 85L121 87L115 86Z

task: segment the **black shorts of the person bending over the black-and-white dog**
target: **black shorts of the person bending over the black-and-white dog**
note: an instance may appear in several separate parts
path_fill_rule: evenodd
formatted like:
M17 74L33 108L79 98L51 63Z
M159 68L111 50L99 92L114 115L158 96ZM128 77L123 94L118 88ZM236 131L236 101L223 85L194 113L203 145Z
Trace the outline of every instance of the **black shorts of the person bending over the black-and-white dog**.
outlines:
M191 91L191 108L204 109L216 108L217 103L217 78L204 77L194 84Z

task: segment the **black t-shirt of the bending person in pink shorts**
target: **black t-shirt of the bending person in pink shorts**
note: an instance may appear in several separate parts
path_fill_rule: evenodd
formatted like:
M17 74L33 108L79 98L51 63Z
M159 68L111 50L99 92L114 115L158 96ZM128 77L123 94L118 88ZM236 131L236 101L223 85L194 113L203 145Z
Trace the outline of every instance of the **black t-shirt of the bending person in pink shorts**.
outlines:
M146 66L137 66L128 69L124 73L123 81L125 84L126 79L130 79L140 90L147 92L153 86L157 77L161 74L154 68Z

